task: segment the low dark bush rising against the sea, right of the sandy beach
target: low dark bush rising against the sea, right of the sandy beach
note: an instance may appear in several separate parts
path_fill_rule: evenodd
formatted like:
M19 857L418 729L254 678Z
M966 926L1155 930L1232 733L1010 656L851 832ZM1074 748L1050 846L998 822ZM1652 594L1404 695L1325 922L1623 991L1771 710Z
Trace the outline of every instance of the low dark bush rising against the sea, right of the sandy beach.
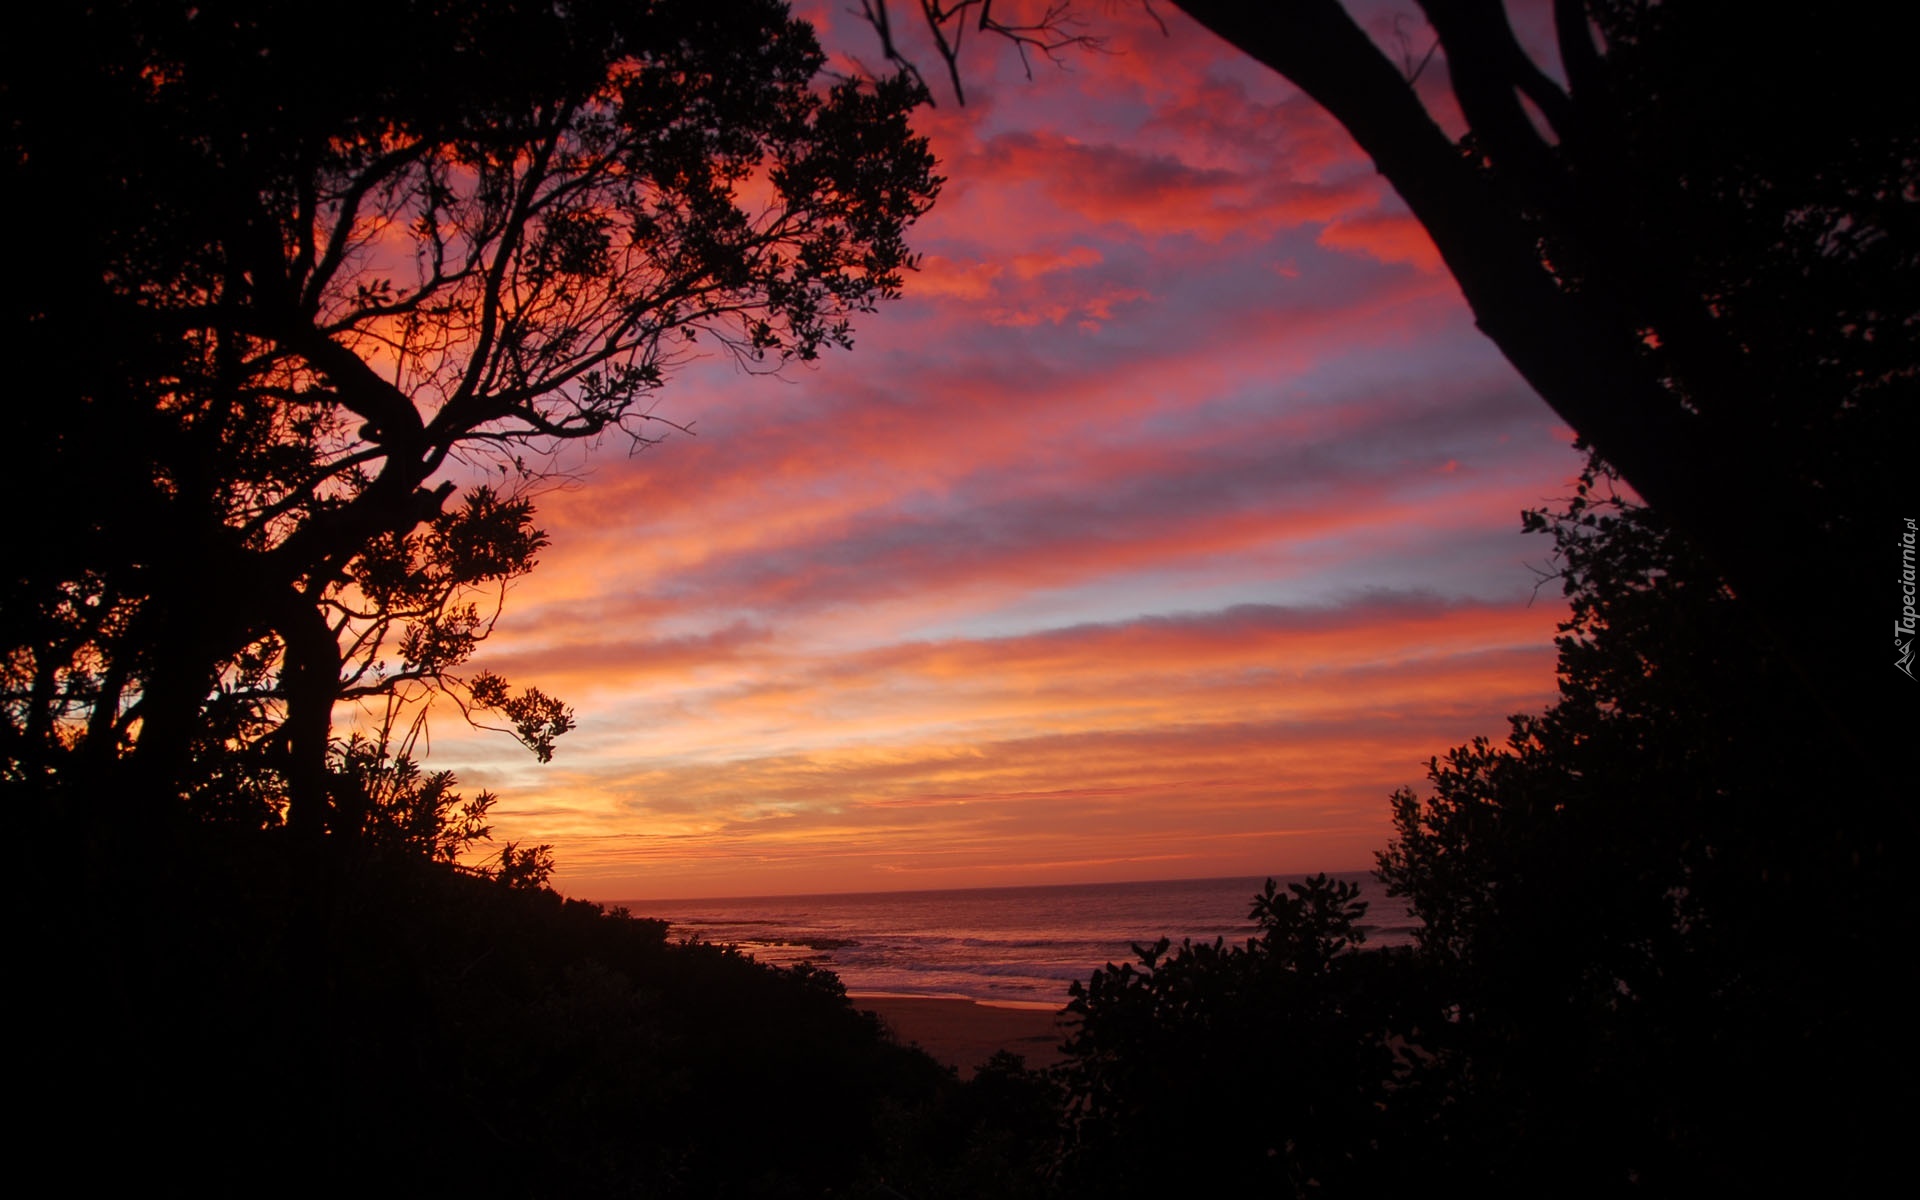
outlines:
M1375 1194L1413 1171L1388 1110L1411 1006L1402 956L1357 952L1365 910L1350 881L1269 879L1246 945L1160 939L1075 983L1069 1194Z

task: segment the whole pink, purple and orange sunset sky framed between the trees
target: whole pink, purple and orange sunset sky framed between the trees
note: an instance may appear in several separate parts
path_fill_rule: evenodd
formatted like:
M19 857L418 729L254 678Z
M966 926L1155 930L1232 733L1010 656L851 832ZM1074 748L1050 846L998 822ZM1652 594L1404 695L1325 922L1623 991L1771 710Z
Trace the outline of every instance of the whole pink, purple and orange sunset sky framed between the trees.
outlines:
M472 666L580 728L541 766L436 712L428 762L561 891L1363 868L1394 787L1551 697L1519 515L1571 432L1346 134L1162 15L1096 10L1110 54L1031 83L981 46L852 353L687 363L693 436L557 463Z

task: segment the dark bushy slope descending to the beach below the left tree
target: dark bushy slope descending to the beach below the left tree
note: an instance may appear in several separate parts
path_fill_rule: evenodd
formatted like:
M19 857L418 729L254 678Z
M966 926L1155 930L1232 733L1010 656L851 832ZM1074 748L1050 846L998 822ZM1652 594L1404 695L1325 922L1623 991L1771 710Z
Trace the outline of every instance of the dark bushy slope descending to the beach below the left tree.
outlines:
M862 1187L885 1171L927 1194L914 1173L937 1162L897 1162L887 1133L958 1083L831 975L411 858L315 874L300 851L202 837L23 908L25 1137L86 1144L102 1104L136 1106L84 1167L129 1190L885 1196Z

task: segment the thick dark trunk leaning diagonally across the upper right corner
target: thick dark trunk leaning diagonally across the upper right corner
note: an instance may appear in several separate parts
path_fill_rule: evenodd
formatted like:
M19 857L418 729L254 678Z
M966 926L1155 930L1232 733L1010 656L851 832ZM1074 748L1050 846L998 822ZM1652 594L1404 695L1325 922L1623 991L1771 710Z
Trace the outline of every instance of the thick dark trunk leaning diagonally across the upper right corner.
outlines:
M1611 278L1628 286L1665 278L1661 265L1620 263L1613 248L1597 255L1580 292L1563 288L1542 261L1540 227L1440 131L1400 69L1336 0L1177 2L1346 127L1432 236L1478 328L1715 563L1755 636L1782 649L1807 684L1807 699L1866 768L1866 785L1891 781L1891 749L1903 745L1914 697L1891 693L1897 676L1887 670L1884 618L1893 609L1874 605L1891 595L1891 584L1876 589L1874 578L1876 568L1893 578L1891 522L1905 513L1884 515L1884 547L1837 541L1822 520L1832 497L1793 470L1801 447L1786 442L1795 434L1772 428L1770 415L1753 403L1741 405L1751 399L1738 396L1741 380L1690 378L1705 390L1705 403L1682 403L1642 353L1638 328L1649 301L1670 309L1672 296L1607 288ZM1697 351L1713 359L1711 346ZM1891 482L1880 493L1889 490Z

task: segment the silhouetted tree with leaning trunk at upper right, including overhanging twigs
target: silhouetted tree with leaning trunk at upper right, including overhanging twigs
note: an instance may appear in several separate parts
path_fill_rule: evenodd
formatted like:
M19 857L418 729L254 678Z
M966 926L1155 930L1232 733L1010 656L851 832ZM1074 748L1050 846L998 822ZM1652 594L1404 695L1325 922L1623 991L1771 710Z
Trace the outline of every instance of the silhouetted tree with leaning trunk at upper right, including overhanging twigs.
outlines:
M1885 624L1920 378L1920 123L1880 10L1555 0L1555 77L1503 0L1417 0L1430 61L1394 61L1338 0L1177 4L1346 127L1480 330L1701 547L1884 787L1916 699L1893 691ZM885 0L864 8L904 61ZM1066 6L918 8L948 67L968 33L1021 54L1085 40Z

